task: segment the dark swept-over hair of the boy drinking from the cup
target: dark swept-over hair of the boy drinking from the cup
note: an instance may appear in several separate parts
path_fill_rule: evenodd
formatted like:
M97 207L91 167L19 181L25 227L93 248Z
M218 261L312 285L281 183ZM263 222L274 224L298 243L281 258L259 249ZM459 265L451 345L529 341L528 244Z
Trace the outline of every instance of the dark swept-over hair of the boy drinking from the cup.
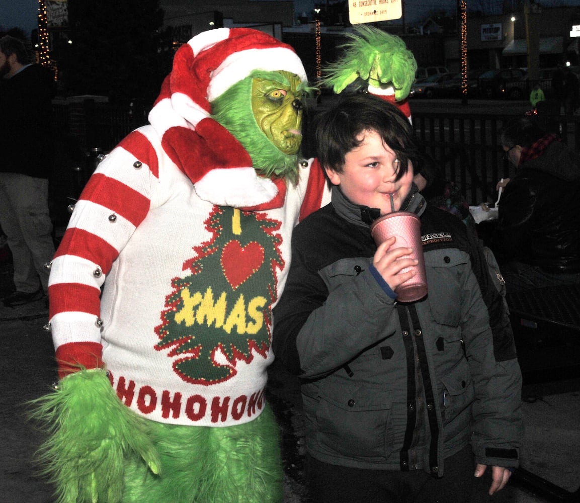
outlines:
M317 154L322 168L342 173L345 155L360 146L357 138L363 131L379 133L397 154L397 180L407 173L409 160L414 167L419 164L419 142L407 117L393 104L361 93L340 98L317 117Z

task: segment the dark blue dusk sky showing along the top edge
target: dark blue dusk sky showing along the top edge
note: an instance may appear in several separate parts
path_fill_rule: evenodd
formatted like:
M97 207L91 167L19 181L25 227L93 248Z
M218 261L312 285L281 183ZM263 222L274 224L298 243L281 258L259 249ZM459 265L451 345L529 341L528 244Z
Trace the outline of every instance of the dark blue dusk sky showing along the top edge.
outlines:
M309 14L314 9L314 3L324 3L325 0L295 0L296 14ZM516 2L514 2L516 3ZM580 0L542 0L541 5L546 7L558 5L578 5ZM457 0L405 0L405 17L407 22L413 23L425 16L429 10L454 10ZM487 13L501 12L503 0L467 0L468 9L481 5ZM14 26L22 28L27 34L37 27L38 0L0 0L0 27L8 29Z

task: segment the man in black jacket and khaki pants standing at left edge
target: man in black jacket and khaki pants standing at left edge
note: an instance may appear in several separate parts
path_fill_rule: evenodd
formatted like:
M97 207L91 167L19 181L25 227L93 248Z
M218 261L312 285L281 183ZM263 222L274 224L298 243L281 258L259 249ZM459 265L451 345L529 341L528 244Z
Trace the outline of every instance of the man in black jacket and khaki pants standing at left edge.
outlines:
M45 264L55 254L48 209L53 162L52 74L30 64L24 43L0 38L0 226L14 265L12 307L38 301L48 291Z

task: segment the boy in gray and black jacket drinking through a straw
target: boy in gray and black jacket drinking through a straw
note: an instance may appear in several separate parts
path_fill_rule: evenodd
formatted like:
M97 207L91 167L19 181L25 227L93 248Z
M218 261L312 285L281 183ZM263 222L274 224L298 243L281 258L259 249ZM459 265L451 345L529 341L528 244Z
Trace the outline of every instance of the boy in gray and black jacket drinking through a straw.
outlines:
M273 335L303 379L313 501L465 503L474 459L501 490L519 459L521 373L511 332L492 335L481 249L418 193L419 145L395 107L347 97L316 137L332 203L295 229ZM391 197L421 220L429 293L408 304L397 287L411 249L377 248L369 230Z

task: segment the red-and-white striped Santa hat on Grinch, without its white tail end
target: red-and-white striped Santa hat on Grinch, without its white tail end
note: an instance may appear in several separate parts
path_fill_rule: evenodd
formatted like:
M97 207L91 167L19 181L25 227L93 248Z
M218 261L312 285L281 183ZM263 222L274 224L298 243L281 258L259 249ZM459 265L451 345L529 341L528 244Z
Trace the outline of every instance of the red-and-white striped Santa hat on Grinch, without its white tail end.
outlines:
M211 102L254 70L289 71L307 81L291 46L252 28L205 31L175 53L149 121L193 183L212 169L251 168L240 143L211 118Z

